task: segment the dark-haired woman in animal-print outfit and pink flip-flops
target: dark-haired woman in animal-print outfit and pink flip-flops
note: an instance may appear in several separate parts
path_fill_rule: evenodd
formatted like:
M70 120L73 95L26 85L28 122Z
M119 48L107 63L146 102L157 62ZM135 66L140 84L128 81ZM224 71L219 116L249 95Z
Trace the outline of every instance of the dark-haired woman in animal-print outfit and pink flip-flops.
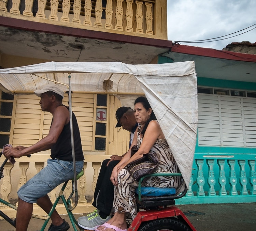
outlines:
M145 97L139 97L135 100L134 115L139 126L134 133L131 147L137 145L138 151L130 157L130 148L123 159L113 169L110 180L115 185L113 203L115 213L105 224L96 227L96 231L126 230L126 213L130 213L132 218L136 216L137 210L134 191L138 187L138 182L125 169L125 166L131 161L139 159L145 153L154 151L157 153L159 159L159 167L156 172L180 172L155 114ZM142 183L142 186L177 188L180 185L180 181L180 177L161 176L149 178Z

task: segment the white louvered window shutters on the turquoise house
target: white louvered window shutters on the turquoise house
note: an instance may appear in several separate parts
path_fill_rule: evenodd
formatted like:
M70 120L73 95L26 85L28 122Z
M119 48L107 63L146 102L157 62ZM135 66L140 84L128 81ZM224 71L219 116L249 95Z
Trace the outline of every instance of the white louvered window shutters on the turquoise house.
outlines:
M202 91L207 92L201 88L198 92ZM198 93L199 146L256 147L255 92L212 92Z

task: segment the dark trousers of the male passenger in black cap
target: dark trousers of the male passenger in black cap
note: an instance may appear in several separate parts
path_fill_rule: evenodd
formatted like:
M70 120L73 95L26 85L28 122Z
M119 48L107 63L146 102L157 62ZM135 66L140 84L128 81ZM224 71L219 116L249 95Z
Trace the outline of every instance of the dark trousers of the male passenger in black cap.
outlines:
M105 214L110 214L113 207L114 185L110 181L110 176L113 168L120 162L120 160L112 160L106 166L109 160L105 159L102 162L93 201L93 206Z

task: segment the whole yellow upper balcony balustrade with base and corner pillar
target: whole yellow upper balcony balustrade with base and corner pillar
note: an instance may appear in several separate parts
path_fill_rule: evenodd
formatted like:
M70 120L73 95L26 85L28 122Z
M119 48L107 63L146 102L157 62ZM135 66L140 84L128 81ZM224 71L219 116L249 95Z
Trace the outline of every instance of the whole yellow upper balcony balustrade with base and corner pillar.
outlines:
M167 40L166 0L1 0L0 16Z

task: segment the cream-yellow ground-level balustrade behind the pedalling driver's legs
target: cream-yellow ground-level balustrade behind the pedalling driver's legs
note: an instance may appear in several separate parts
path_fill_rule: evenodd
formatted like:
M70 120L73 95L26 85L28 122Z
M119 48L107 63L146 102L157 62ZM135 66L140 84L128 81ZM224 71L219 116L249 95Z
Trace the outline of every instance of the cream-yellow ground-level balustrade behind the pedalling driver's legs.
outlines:
M48 157L49 155L46 154L33 154L30 158L22 157L20 159L16 159L16 163L14 165L8 161L4 166L4 177L0 180L0 197L3 200L17 206L17 190L23 184L25 184L29 178L38 173L45 166ZM79 201L74 213L86 213L92 210L91 202L98 179L101 162L106 158L109 158L109 156L85 155L85 174L77 181ZM3 160L4 157L2 156L0 161ZM2 164L2 162L0 162L0 164ZM51 191L51 193L48 194L53 203L58 197L61 186L62 185L56 187ZM64 191L64 195L66 195L66 197L69 196L71 191L72 184L71 181L69 181ZM16 215L15 210L4 204L0 204L0 210L11 217L15 217ZM65 207L63 204L58 205L58 210L60 213L65 214ZM37 215L45 215L45 213L36 204L34 204L34 212Z

